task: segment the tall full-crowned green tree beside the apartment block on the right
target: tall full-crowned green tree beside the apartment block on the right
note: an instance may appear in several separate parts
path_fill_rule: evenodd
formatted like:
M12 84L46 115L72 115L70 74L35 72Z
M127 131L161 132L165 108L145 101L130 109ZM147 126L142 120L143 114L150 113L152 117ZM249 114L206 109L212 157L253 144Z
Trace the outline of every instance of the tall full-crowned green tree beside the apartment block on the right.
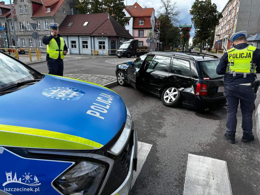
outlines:
M223 17L217 10L217 5L211 3L211 0L199 1L195 0L191 7L191 21L195 28L200 42L200 52L202 52L202 42L206 41L211 34L211 29L219 24L219 20Z

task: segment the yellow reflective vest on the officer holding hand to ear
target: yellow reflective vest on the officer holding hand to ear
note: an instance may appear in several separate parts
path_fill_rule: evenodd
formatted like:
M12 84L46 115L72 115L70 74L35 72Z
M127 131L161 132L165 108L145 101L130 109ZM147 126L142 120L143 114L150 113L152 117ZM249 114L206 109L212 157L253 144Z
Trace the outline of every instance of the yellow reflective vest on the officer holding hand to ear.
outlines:
M56 40L54 38L52 38L49 42L49 44L47 45L47 53L49 54L49 57L52 59L58 59L59 57L59 52L61 54L61 59L64 59L64 54L63 54L63 48L65 45L64 39L62 37L60 37L60 41L61 41L61 48L58 47L58 43L56 42Z

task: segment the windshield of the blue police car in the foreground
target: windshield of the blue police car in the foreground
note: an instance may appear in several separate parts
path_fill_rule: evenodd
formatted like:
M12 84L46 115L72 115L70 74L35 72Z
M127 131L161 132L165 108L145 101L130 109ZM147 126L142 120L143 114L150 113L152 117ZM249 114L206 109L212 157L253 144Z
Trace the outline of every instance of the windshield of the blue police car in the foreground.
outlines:
M17 82L42 79L43 75L0 53L0 90Z

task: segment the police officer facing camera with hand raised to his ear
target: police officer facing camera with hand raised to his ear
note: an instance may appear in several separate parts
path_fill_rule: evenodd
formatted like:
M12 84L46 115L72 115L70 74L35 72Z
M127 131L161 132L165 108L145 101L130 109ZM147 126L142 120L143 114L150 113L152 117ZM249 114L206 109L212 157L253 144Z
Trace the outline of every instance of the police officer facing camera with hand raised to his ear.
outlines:
M51 23L50 35L42 38L43 44L47 45L47 66L49 74L63 76L63 59L68 52L64 39L59 34L59 24Z

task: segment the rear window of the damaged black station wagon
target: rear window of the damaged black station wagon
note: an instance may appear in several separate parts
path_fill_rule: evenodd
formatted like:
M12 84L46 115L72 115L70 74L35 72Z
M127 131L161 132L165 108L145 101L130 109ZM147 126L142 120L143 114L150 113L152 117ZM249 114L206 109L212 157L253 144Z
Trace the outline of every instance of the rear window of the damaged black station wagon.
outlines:
M224 77L224 75L218 75L216 73L218 63L219 60L198 62L198 66L202 74L203 80L210 80L210 79L217 79L217 78Z

